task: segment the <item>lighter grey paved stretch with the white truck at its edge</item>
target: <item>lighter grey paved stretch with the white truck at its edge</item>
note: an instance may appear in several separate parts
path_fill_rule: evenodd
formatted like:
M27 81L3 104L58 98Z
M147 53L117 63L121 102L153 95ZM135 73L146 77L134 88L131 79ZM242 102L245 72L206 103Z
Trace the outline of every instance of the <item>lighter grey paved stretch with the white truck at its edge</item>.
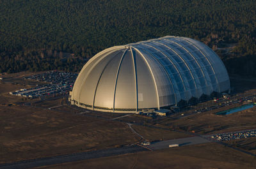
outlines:
M184 145L193 145L193 144L199 144L199 143L209 143L210 141L202 138L200 136L192 136L192 137L187 137L187 138L179 138L179 139L173 139L173 140L166 140L163 142L156 142L148 145L153 150L157 149L165 149L168 148L170 144L177 143L179 146L184 146Z

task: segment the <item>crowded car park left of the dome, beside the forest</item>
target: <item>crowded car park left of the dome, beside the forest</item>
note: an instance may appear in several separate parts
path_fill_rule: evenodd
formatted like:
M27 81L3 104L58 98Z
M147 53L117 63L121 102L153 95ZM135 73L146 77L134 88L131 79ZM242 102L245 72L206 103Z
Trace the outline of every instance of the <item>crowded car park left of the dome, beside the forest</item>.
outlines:
M47 71L38 75L24 77L24 80L45 82L44 85L37 85L29 89L20 89L9 94L24 98L38 98L42 96L57 96L67 94L72 91L77 73L67 73L63 71Z

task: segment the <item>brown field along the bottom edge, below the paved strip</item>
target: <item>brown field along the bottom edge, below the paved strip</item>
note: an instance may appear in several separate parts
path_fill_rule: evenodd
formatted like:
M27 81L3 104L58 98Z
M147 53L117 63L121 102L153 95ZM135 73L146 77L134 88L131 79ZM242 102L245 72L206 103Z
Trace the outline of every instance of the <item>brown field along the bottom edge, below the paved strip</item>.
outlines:
M108 158L89 159L75 163L41 168L255 168L256 160L248 154L216 143L139 152Z

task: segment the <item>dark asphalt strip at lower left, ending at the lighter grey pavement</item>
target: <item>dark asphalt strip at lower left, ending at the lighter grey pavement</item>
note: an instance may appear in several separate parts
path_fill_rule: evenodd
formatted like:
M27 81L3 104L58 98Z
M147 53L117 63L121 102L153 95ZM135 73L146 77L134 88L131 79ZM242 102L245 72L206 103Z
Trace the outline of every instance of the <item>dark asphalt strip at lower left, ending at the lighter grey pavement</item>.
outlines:
M122 147L122 148L113 148L113 149L105 149L105 150L90 151L90 152L79 152L79 153L67 154L62 156L54 156L49 158L38 158L38 159L17 161L14 163L4 163L4 164L0 164L0 169L35 168L38 166L55 165L60 163L80 161L84 159L116 156L120 154L134 153L139 151L148 151L148 149L145 149L138 145L132 145L129 147Z

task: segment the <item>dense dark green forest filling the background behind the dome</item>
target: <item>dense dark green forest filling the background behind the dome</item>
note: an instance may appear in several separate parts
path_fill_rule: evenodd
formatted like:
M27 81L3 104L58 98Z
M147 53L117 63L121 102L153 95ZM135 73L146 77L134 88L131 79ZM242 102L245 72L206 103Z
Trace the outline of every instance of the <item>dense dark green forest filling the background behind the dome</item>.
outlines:
M186 36L256 75L253 0L0 0L0 73L79 71L104 48Z

